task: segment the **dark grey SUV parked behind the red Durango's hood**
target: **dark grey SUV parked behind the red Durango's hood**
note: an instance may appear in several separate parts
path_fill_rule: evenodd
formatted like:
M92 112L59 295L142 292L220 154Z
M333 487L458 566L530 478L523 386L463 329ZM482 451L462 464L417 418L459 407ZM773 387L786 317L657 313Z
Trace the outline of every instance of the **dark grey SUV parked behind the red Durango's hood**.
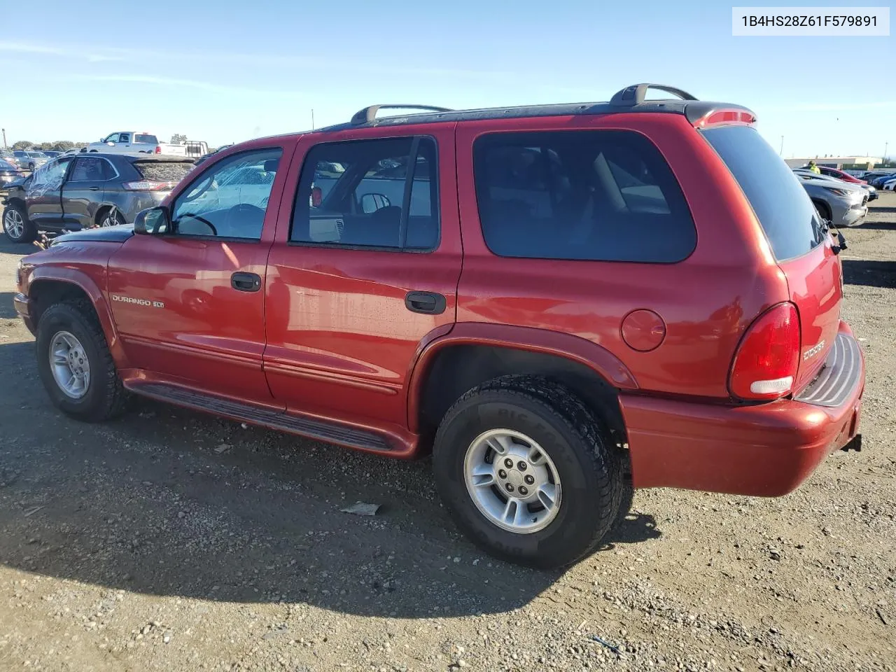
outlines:
M5 192L4 233L13 243L40 231L131 223L157 205L193 167L192 159L146 154L62 156Z

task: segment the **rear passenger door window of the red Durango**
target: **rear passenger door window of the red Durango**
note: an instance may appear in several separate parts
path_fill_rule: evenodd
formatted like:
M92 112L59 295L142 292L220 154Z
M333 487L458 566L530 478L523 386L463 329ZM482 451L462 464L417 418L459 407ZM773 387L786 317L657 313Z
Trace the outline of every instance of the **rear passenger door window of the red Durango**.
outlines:
M433 249L438 243L439 211L435 161L435 142L430 138L314 146L302 168L290 240Z

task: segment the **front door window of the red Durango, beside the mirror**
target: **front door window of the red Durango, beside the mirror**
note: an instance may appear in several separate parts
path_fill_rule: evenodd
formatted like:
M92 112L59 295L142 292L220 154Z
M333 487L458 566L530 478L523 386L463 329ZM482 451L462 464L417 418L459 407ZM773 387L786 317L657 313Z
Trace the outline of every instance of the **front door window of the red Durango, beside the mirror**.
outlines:
M280 149L246 151L202 173L174 203L177 234L260 239L280 154Z

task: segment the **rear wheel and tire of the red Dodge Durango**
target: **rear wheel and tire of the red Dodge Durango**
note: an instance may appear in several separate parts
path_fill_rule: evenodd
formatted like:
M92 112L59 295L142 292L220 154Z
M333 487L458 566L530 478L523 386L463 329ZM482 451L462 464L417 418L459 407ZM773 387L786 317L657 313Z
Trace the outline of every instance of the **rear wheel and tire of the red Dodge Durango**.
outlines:
M534 376L464 394L439 426L433 468L444 504L479 547L543 569L599 547L625 486L599 419L563 385Z

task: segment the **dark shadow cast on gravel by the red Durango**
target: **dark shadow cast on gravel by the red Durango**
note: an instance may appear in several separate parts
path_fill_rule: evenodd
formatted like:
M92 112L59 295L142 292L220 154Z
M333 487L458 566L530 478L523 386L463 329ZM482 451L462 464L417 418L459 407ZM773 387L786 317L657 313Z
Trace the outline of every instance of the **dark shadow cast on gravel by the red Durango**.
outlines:
M151 401L82 424L50 405L31 343L0 345L0 369L15 390L0 397L0 562L9 567L151 595L406 618L506 612L561 575L502 563L461 537L428 460ZM340 511L358 501L381 509ZM634 513L604 547L659 535L652 516Z

